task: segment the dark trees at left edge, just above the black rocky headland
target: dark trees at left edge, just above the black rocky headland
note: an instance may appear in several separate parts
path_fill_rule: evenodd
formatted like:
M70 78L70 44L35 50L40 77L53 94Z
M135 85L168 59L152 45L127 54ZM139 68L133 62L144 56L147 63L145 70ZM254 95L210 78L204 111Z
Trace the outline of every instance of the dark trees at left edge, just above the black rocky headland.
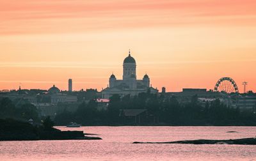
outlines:
M19 102L15 102L19 103ZM0 100L0 118L15 118L20 120L33 119L33 121L40 121L39 111L35 105L29 102L15 105L9 98L2 98Z

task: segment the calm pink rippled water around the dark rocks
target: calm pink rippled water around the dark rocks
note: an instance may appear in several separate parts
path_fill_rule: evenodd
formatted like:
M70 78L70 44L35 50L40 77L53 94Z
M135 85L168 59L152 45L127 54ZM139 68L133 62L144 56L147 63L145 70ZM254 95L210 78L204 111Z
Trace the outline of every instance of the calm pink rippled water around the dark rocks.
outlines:
M256 127L58 128L100 134L103 140L4 141L0 142L0 160L256 160L256 146L132 144L134 141L255 137Z

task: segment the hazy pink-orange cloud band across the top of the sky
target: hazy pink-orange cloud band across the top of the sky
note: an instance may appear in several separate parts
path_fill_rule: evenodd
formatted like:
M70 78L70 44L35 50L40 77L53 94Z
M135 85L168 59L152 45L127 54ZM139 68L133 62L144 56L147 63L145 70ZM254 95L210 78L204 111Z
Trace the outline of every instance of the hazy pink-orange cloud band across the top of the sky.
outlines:
M252 0L8 0L0 2L0 34L188 24L248 25L255 24L255 8L256 1Z

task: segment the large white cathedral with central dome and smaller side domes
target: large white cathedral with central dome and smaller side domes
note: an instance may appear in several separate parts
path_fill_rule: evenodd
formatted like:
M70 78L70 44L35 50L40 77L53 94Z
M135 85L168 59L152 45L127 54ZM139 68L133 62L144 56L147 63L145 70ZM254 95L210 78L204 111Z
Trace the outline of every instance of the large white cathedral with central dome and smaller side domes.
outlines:
M101 91L102 98L109 98L112 95L131 95L135 96L139 93L158 93L158 90L150 86L150 79L147 74L144 75L142 80L137 80L136 76L136 61L131 56L125 57L123 63L123 79L116 79L115 75L112 74L109 78L109 86Z

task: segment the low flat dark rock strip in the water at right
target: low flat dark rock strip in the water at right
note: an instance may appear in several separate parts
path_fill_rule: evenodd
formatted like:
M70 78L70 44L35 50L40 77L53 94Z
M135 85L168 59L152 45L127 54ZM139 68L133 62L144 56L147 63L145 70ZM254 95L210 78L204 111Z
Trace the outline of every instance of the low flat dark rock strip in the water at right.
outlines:
M133 142L133 144L239 144L256 145L256 137L229 140L191 140L191 141L171 141L171 142Z

